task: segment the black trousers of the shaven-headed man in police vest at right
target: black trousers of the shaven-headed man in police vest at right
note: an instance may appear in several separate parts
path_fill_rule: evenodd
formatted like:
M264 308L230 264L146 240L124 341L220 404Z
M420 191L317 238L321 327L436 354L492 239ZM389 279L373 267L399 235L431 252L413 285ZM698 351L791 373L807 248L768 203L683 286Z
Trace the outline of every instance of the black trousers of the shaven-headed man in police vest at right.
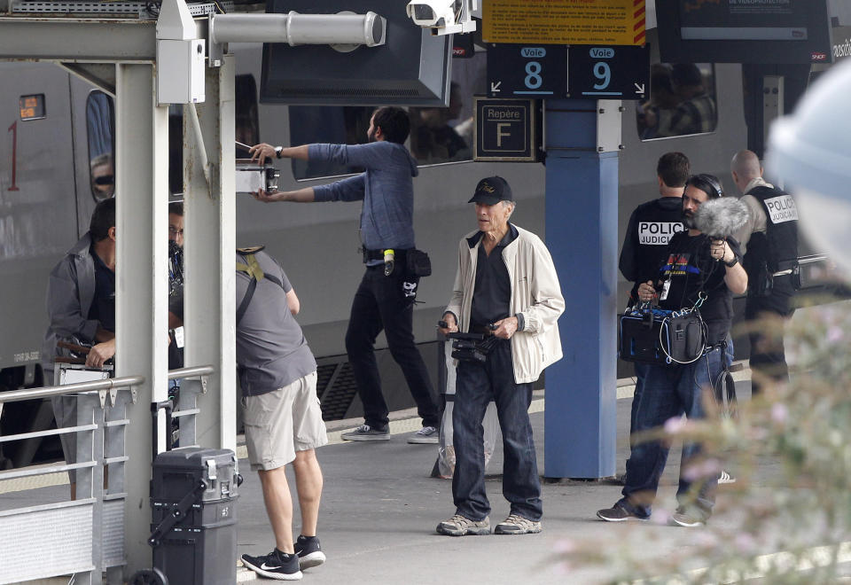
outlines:
M782 315L771 306L768 301L762 300L759 297L748 297L745 303L745 319L749 321L749 325L753 327L748 331L748 339L751 342L751 394L753 396L760 394L762 391L760 378L773 379L777 382L789 381L789 367L786 365L785 347L783 346L782 323L791 312L786 311L786 315ZM765 327L760 326L760 321L777 320L780 325L780 334L775 334L773 331L766 331ZM774 328L772 327L772 330Z

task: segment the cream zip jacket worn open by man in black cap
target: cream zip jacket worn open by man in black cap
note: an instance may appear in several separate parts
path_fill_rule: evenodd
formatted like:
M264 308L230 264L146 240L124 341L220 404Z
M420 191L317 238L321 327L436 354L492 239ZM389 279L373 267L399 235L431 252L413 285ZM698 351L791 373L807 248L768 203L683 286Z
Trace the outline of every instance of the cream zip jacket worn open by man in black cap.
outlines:
M511 280L509 314L523 315L523 330L511 336L515 384L534 382L550 363L561 359L558 316L565 310L556 268L549 250L531 231L517 226L518 237L503 250ZM460 331L470 327L472 292L476 285L480 231L467 234L458 246L458 271L446 310L456 316Z

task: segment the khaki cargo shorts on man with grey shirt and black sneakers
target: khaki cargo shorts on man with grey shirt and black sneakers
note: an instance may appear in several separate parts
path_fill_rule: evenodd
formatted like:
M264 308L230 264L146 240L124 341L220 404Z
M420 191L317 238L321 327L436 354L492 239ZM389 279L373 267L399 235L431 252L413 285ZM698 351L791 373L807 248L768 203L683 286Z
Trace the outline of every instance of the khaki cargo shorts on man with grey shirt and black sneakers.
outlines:
M243 396L248 461L254 471L277 469L295 459L296 451L328 443L316 371L283 388L259 396Z

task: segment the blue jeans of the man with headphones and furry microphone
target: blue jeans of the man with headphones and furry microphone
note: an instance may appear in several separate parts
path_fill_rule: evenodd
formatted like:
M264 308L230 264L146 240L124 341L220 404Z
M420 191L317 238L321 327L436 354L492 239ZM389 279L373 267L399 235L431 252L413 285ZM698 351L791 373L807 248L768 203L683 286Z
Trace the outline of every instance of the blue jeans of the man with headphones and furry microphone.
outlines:
M689 418L704 418L703 401L712 400L712 384L723 368L727 356L722 348L715 347L695 363L676 366L650 366L646 370L644 388L636 411L636 433L657 428L669 418L685 412ZM686 467L701 454L698 443L683 444L683 463ZM668 460L668 447L660 441L636 444L627 461L627 479L622 494L639 515L650 515L652 501L659 487L659 479ZM691 494L691 481L683 479L681 470L677 501L681 505L694 505L708 518L714 505L713 476L699 480L698 493Z

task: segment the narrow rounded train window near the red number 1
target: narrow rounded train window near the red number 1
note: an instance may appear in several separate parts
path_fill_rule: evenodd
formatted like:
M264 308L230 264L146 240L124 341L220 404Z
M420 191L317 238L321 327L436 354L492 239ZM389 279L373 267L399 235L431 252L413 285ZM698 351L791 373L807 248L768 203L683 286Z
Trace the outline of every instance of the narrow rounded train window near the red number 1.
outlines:
M86 100L91 195L96 201L115 194L115 110L113 98L92 91Z

